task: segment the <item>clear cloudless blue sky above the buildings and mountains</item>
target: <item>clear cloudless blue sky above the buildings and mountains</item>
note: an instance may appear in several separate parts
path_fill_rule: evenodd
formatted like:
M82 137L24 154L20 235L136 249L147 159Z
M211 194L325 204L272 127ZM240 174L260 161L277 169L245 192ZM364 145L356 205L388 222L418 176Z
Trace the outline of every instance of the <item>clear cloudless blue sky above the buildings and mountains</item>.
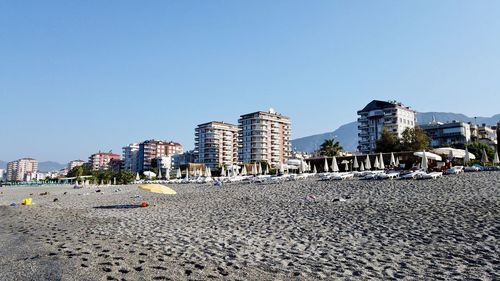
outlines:
M270 107L500 113L500 1L0 1L0 159L67 162Z

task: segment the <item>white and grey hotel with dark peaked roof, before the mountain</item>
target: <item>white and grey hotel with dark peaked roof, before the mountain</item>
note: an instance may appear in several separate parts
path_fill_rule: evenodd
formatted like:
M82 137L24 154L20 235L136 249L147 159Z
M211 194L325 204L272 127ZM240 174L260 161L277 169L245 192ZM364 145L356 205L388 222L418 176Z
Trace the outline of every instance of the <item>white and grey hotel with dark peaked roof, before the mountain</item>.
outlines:
M358 151L363 154L375 152L383 128L401 138L405 129L417 124L416 111L396 101L373 100L358 115Z

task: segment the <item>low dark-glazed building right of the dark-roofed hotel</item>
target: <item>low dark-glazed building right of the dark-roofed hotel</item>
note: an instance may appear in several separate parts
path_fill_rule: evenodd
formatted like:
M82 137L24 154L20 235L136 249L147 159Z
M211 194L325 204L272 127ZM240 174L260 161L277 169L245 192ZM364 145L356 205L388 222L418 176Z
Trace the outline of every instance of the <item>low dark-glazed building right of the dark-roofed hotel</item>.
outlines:
M471 141L471 127L465 122L432 122L420 127L431 138L431 147L465 145Z

